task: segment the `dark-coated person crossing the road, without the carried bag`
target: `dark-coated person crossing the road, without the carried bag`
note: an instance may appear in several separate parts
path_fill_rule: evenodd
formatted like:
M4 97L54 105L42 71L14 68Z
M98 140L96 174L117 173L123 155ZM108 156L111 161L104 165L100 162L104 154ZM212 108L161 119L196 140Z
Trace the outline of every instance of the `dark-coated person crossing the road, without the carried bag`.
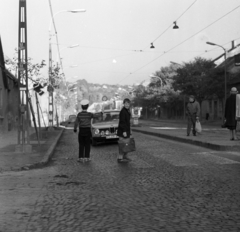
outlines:
M117 131L117 135L119 136L120 141L130 138L131 136L130 119L131 119L130 100L128 98L125 98L123 101L123 108L119 114L119 123ZM123 157L122 158L118 157L118 161L124 162L130 161L130 159L127 157L127 153L123 153Z

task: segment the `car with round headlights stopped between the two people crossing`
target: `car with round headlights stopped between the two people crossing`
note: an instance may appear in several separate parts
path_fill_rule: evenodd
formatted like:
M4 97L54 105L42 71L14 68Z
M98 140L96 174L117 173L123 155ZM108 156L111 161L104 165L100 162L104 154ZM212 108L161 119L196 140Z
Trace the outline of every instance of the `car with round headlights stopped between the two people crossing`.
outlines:
M94 113L92 121L92 145L99 142L117 141L117 128L119 121L119 110L105 110Z

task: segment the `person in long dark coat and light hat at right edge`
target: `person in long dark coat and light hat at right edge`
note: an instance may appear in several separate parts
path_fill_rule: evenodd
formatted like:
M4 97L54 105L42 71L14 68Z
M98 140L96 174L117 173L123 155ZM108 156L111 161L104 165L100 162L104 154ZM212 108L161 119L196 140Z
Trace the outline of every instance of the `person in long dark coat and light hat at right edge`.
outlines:
M238 91L236 87L232 87L230 96L225 104L225 126L230 130L230 140L238 140L236 135L236 95Z

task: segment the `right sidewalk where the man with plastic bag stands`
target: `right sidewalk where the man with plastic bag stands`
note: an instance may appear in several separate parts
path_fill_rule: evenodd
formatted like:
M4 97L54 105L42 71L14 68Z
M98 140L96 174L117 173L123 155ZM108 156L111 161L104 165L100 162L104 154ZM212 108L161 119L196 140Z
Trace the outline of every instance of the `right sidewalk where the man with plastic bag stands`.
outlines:
M240 140L230 141L228 129L221 128L221 122L202 122L202 133L187 136L187 122L176 120L139 120L133 131L178 142L189 143L220 151L240 151ZM240 132L237 133L240 139Z

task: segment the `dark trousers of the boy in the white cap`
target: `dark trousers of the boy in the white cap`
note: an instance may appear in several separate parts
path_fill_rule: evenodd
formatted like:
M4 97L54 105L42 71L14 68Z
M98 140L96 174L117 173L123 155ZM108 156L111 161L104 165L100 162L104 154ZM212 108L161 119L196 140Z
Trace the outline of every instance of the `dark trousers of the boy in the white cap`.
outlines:
M79 128L78 133L78 143L79 143L79 158L90 158L90 149L91 149L91 129Z

